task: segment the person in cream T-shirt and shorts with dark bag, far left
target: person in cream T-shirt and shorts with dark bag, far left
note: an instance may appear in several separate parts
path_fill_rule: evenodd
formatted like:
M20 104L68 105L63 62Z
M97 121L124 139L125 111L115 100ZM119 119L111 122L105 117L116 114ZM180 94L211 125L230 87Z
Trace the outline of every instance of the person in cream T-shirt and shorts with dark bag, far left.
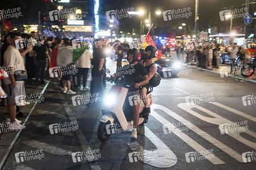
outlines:
M20 121L16 120L16 101L15 97L19 95L25 95L25 87L23 81L16 81L14 77L14 71L26 70L24 65L24 58L16 49L15 40L21 39L19 33L10 33L10 45L3 54L3 65L8 68L9 77L3 79L5 84L5 92L7 94L8 111L10 116L9 129L24 129L25 126L20 125Z

